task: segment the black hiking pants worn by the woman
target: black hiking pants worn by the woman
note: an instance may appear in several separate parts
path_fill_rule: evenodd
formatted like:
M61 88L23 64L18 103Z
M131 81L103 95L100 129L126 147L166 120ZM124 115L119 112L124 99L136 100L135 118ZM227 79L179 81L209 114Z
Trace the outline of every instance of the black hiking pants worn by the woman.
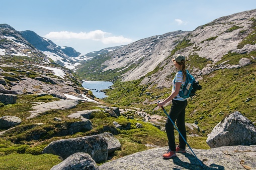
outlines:
M181 134L187 141L187 135L186 135L186 127L185 127L185 109L188 104L188 101L179 101L179 100L172 100L172 107L169 111L169 116L173 120L173 122L176 121L176 125L178 129L180 130ZM165 130L168 138L168 145L169 149L172 151L176 151L176 143L175 143L175 135L174 135L174 125L172 121L167 118L165 123ZM185 149L186 142L182 138L182 136L179 133L179 145L180 148Z

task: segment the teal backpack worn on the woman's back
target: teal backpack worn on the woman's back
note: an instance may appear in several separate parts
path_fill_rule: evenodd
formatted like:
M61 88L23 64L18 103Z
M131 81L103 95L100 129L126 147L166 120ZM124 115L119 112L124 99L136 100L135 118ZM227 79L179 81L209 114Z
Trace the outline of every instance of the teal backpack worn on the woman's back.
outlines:
M186 82L185 82L185 86L184 88L179 92L179 96L181 96L182 98L186 99L189 97L193 97L196 94L197 90L202 89L202 86L199 85L199 82L195 80L195 78L189 73L188 70L187 71L187 76L186 76ZM179 71L182 72L182 71ZM174 79L174 83L176 81L176 77Z

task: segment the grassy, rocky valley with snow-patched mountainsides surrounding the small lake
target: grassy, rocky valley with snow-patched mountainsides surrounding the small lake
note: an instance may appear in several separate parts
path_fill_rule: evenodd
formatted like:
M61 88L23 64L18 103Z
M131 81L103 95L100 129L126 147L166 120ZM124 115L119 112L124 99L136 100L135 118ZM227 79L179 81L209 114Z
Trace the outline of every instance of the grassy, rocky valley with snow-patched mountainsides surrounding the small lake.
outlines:
M235 111L255 125L255 16L256 10L245 11L194 31L152 36L88 55L1 24L0 93L5 97L0 118L15 116L21 122L0 127L0 167L50 169L62 161L57 155L41 154L50 142L103 132L111 132L121 143L106 162L167 146L167 117L156 103L171 93L176 73L172 59L179 53L187 57L187 69L202 85L186 109L191 147L209 149L207 134ZM82 80L113 85L104 90L108 97L97 98L82 87ZM6 101L10 96L15 102ZM70 107L61 106L66 101L72 102ZM164 108L168 111L170 103ZM70 117L74 114L78 116Z

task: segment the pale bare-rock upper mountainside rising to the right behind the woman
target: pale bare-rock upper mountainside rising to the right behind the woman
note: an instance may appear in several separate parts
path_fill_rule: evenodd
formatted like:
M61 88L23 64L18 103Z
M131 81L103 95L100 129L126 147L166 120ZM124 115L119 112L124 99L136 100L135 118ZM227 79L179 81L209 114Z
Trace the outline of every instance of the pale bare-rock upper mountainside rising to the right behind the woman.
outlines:
M175 71L170 60L179 53L189 59L188 68L198 79L214 70L243 67L255 59L255 16L256 10L245 11L221 17L191 32L176 31L136 41L110 52L111 59L102 63L103 74L126 69L120 77L131 81L156 69L144 77L142 84L169 87L168 77ZM237 56L235 62L230 62L234 59L228 58L228 54Z

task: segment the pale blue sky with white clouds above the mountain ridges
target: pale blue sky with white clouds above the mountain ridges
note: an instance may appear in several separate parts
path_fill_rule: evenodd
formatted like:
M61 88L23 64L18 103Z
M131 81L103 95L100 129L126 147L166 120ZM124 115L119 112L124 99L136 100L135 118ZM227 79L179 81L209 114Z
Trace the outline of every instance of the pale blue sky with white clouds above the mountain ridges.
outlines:
M255 0L0 0L0 24L31 30L81 54L164 33L193 31L256 9Z

